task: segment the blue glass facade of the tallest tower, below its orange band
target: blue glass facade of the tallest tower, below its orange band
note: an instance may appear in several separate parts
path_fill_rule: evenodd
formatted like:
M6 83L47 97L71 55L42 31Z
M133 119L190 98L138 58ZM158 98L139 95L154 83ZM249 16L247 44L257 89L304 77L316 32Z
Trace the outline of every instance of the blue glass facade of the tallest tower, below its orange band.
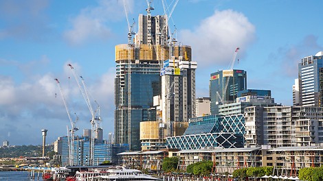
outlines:
M125 73L124 80L115 78L115 143L129 144L131 150L138 151L141 149L140 122L156 120L156 110L151 108L153 97L161 93L158 61L131 65L131 143L128 143L128 79L128 73Z

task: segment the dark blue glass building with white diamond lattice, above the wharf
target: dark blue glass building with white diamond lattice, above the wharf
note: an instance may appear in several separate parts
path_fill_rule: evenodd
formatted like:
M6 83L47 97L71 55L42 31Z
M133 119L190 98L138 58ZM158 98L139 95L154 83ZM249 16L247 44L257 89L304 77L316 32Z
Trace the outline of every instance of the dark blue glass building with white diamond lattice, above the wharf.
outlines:
M190 119L183 136L166 138L169 149L201 149L203 147L243 147L245 143L243 114L219 117L210 115Z

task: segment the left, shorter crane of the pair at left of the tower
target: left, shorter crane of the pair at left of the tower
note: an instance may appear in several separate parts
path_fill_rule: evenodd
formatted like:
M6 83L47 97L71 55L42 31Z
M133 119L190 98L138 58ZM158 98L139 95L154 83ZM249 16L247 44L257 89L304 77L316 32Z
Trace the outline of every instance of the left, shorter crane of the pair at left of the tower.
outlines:
M63 103L65 106L67 115L69 117L69 122L71 123L71 130L69 130L68 126L67 126L67 130L69 130L69 132L71 132L71 140L69 140L68 132L67 132L67 138L68 138L68 142L69 142L69 165L74 165L74 133L78 130L78 128L76 128L76 122L78 121L78 116L76 115L75 121L73 121L71 119L71 114L69 114L69 108L67 107L65 97L63 95L63 90L62 90L62 87L60 86L60 82L58 81L58 79L55 79L55 80L56 80L56 83L57 83L58 88L60 90L60 95L62 96Z

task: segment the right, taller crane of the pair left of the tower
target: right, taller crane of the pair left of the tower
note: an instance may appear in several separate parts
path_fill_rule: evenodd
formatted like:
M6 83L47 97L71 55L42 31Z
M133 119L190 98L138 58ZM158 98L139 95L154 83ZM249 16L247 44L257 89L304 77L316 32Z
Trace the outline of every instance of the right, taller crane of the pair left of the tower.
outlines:
M94 142L95 142L94 133L95 133L95 130L98 130L98 128L95 129L95 125L98 125L97 122L101 121L100 115L97 116L97 113L100 112L100 106L98 106L96 108L96 110L93 110L93 108L91 106L91 101L89 100L89 93L87 93L87 88L85 86L83 77L77 75L76 71L74 71L74 67L71 64L67 64L67 65L71 68L71 71L75 77L76 83L78 84L78 88L80 88L80 92L82 93L82 96L85 99L87 107L89 108L89 111L92 116L91 121L90 121L90 123L91 123L91 139L90 139L89 165L93 165L93 163L94 163ZM80 85L79 79L82 80L83 88ZM98 103L96 102L96 104L98 104Z

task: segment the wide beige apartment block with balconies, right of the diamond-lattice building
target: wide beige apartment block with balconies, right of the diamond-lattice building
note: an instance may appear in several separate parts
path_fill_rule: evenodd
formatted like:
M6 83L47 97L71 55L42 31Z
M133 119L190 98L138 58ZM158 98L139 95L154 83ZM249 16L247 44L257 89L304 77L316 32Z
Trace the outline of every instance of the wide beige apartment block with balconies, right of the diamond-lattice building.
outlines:
M276 148L323 143L322 120L321 107L247 107L245 146L265 144Z

